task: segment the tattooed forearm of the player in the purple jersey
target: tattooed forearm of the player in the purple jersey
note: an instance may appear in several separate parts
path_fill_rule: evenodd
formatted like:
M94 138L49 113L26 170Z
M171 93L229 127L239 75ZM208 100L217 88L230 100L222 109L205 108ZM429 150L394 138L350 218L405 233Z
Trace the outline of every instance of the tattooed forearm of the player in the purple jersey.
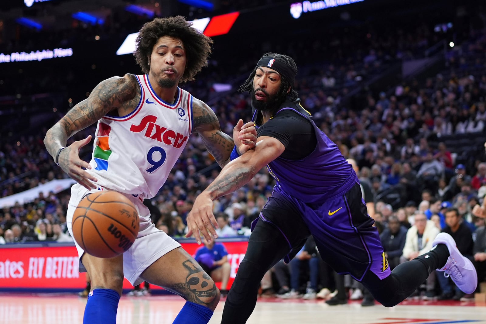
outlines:
M234 164L226 166L205 190L212 200L230 194L248 183L256 174L253 166Z

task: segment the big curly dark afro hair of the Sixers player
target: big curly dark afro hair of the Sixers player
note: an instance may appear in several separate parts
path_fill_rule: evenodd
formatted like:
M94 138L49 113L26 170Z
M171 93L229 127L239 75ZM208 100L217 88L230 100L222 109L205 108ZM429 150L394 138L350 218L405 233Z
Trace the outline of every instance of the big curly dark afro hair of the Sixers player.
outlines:
M133 55L143 73L150 71L149 57L154 45L163 36L179 38L184 44L187 67L181 82L194 80L194 76L208 66L213 43L211 38L193 28L191 22L182 16L156 18L143 25L136 40L137 48Z

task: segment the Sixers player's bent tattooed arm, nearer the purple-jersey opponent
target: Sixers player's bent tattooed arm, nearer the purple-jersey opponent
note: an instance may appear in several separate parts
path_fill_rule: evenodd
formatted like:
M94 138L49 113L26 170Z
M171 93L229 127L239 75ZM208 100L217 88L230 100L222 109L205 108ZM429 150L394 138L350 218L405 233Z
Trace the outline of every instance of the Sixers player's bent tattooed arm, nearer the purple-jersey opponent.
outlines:
M221 130L214 112L200 100L194 101L192 124L208 152L221 167L224 167L229 162L229 155L235 145L233 138Z

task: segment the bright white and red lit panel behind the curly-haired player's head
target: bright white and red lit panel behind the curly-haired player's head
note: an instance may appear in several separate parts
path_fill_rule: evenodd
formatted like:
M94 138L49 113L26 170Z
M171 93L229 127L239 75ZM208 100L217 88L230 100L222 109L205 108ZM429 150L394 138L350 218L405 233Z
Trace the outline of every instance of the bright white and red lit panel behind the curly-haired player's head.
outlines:
M225 35L229 32L240 12L232 12L225 15L214 16L213 18L202 18L192 20L192 27L204 33L208 37ZM117 50L117 55L132 54L135 51L135 40L139 33L128 34Z

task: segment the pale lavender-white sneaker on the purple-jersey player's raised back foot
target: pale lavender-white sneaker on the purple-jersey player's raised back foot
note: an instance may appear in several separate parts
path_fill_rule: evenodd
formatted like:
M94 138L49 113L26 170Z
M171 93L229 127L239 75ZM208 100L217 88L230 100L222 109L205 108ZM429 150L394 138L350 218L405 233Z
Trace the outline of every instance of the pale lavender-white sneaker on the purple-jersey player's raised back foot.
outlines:
M437 271L444 271L444 276L446 278L450 276L454 284L465 293L473 293L478 285L478 274L472 262L457 250L452 236L447 233L439 233L432 244L434 246L445 244L449 249L450 256L446 265L441 269L437 269Z

